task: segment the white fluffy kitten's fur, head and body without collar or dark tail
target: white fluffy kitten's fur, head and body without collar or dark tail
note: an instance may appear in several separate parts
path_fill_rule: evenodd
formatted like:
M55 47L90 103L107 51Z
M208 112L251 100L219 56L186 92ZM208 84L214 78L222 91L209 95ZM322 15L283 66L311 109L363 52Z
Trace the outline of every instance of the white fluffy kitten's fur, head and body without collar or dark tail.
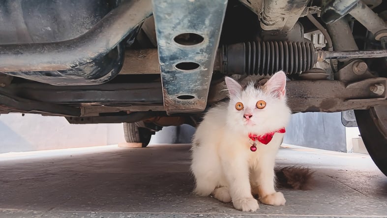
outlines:
M262 89L250 83L245 89L226 77L230 101L211 108L196 130L192 147L191 169L196 179L194 192L213 194L223 202L233 202L242 211L259 209L253 194L269 205L284 205L285 198L275 190L274 162L283 135L275 133L268 145L258 142L250 151L248 133L262 135L285 127L291 111L286 104L286 75L275 73ZM266 101L258 109L258 100ZM235 108L242 102L243 110ZM244 114L253 115L246 124Z

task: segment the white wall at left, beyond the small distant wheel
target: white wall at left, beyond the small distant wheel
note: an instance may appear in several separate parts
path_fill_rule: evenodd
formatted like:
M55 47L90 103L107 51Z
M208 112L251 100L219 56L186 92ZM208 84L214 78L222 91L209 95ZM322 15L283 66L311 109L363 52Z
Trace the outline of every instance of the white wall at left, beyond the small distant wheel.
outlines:
M63 117L2 114L0 153L101 146L123 142L122 124L69 124Z

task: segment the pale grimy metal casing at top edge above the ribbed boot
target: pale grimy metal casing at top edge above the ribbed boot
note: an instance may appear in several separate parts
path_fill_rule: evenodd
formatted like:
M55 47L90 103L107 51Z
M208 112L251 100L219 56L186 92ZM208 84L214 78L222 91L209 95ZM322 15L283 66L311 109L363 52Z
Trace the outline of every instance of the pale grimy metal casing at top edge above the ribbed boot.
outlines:
M265 31L290 31L309 0L264 0L261 28Z

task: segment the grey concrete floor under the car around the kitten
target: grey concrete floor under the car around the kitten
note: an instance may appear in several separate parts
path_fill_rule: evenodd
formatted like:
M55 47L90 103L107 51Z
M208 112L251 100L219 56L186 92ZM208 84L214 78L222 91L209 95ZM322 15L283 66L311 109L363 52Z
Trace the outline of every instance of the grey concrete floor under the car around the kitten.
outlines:
M283 146L280 165L316 170L313 190L242 213L196 197L189 145L0 154L0 218L387 217L387 177L367 155Z

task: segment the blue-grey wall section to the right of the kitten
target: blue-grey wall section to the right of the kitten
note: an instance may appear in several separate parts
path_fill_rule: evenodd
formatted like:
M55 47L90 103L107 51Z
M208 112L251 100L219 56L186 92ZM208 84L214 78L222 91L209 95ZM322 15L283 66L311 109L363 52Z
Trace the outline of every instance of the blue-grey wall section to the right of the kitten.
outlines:
M297 113L291 117L284 143L348 152L341 113Z

